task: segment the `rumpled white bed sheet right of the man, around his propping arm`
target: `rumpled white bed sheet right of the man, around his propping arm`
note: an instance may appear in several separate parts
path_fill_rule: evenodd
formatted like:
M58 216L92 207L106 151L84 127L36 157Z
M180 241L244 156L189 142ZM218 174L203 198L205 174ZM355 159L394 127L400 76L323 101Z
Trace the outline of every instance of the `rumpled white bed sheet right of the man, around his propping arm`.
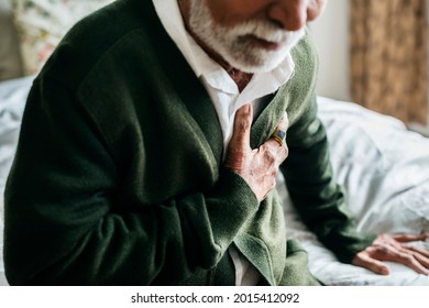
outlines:
M403 122L355 103L318 98L337 180L348 190L360 231L429 232L429 139ZM284 186L288 233L309 253L310 271L327 285L429 285L429 277L387 263L391 275L341 264L299 221ZM414 243L429 249L429 241Z

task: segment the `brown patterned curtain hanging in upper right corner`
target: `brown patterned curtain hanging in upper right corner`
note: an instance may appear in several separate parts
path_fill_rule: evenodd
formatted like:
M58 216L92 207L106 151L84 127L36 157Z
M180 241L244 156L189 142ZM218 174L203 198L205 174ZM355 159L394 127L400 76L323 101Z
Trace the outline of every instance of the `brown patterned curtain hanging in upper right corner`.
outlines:
M351 0L352 99L406 123L428 118L427 0Z

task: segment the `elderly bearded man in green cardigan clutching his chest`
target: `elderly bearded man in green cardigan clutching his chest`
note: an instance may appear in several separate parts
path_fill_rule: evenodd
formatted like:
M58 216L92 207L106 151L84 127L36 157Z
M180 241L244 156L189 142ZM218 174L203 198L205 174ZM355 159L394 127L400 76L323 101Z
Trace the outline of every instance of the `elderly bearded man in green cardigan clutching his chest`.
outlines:
M333 182L305 30L324 2L118 0L79 22L28 100L9 282L318 284L287 240L278 170L340 261L427 274L425 252L356 233Z

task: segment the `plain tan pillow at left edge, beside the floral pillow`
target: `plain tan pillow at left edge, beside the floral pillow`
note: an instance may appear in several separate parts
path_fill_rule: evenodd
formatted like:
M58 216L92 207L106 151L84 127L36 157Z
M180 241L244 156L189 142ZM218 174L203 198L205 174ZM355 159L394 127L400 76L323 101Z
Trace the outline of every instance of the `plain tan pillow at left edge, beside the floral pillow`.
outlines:
M0 1L0 80L22 75L16 32L12 22L11 0Z

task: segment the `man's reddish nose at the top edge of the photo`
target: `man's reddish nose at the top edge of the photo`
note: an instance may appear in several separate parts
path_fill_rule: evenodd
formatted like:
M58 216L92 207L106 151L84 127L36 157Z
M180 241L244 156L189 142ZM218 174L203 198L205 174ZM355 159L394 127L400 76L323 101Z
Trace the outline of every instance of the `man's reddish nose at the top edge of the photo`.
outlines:
M268 8L268 18L287 31L297 31L307 23L309 0L278 0Z

